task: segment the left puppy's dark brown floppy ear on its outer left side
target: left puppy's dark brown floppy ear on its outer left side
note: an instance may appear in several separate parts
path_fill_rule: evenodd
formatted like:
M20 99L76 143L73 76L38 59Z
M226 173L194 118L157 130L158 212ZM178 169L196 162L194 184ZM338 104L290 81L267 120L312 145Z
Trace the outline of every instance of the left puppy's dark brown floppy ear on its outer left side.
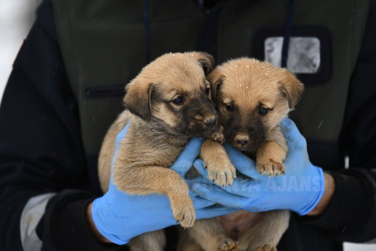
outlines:
M123 99L125 108L146 121L150 120L153 84L141 82L136 78L126 85L126 90Z

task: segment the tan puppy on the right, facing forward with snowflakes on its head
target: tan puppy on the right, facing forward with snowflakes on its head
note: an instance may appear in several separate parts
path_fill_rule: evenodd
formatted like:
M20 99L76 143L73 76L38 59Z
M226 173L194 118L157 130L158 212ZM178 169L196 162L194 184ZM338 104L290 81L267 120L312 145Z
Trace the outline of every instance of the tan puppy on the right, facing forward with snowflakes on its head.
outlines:
M208 80L223 126L217 137L223 136L225 142L256 158L260 174L284 174L282 162L288 149L279 125L300 99L303 84L286 69L250 58L220 65L208 75ZM213 152L222 154L213 158ZM212 170L232 167L225 153L223 145L213 138L205 141L201 152L209 177L221 186L231 184L232 179ZM198 220L193 228L183 232L185 236L178 246L180 250L276 250L288 222L287 210L240 211Z

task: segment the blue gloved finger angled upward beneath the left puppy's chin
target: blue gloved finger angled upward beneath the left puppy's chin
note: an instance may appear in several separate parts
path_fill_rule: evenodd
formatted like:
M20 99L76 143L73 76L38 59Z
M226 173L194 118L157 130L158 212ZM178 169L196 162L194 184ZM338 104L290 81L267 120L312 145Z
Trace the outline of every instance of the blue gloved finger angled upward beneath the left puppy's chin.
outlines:
M171 169L177 172L181 177L192 167L193 162L200 155L204 139L193 138L181 151Z

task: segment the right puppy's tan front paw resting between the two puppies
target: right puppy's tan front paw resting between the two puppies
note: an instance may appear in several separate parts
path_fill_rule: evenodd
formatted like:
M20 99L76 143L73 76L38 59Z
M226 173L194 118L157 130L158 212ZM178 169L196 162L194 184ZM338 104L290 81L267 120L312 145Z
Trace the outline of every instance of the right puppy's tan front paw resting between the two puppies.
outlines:
M209 179L220 186L230 186L236 178L236 169L227 158L208 160L205 167L208 169Z

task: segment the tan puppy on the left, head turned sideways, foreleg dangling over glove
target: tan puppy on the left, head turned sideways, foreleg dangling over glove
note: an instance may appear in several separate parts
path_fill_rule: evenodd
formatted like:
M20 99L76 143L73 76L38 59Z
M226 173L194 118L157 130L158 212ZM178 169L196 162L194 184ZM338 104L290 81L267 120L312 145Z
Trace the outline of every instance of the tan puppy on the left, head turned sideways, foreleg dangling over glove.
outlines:
M113 164L113 182L128 194L164 194L173 216L192 227L195 208L185 181L169 167L193 137L207 137L219 128L218 113L205 73L214 67L207 53L170 53L148 64L130 83L125 110L112 124L99 154L103 192L108 190L116 135L130 122ZM131 250L163 250L163 230L129 242Z

